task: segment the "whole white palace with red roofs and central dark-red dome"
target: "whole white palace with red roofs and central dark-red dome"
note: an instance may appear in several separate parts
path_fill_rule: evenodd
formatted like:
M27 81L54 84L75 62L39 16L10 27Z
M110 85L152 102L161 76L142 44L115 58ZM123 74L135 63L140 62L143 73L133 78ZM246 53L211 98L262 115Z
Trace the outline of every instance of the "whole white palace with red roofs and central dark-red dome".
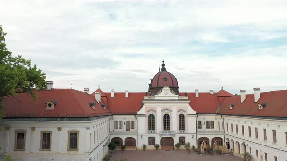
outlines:
M161 70L148 92L90 93L74 89L36 90L5 97L0 126L0 161L101 161L113 141L126 149L172 150L176 143L196 147L226 145L253 161L287 161L287 90L239 96L218 92L180 92L176 77Z

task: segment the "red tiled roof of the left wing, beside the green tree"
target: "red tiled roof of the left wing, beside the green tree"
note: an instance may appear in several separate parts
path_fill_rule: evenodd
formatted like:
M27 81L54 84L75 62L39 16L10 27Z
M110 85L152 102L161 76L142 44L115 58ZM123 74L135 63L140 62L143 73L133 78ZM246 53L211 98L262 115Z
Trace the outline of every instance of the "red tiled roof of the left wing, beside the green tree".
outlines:
M25 93L4 97L4 117L92 117L111 114L92 95L74 89L36 91L38 103ZM45 102L57 101L54 110L45 110ZM95 103L93 110L89 103Z

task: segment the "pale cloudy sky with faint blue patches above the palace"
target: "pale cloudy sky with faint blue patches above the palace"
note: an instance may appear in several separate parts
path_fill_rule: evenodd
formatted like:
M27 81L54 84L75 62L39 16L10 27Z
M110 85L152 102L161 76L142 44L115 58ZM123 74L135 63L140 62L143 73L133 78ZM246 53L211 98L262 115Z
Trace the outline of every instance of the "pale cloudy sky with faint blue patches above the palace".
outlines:
M164 57L180 92L287 89L287 0L0 0L13 55L53 88L146 92Z

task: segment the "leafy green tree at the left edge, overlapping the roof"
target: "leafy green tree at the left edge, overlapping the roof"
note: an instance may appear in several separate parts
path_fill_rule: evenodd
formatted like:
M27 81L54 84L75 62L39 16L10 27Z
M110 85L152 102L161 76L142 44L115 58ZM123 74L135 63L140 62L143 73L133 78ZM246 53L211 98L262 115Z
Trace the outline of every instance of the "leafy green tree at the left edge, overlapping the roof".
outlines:
M2 101L4 96L15 96L17 93L27 93L37 101L34 88L46 87L46 74L32 65L31 60L21 55L13 57L6 48L5 36L0 25L0 119L3 116Z

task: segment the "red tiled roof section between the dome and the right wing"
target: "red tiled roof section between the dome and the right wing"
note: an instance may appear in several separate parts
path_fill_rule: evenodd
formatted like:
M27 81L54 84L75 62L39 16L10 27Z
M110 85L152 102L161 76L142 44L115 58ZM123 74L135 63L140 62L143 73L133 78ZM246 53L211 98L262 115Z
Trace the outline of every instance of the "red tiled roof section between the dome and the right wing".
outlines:
M185 96L184 93L180 93L181 96ZM187 93L188 99L190 100L189 105L197 113L215 113L218 109L217 93L210 95L209 92L199 93L199 97L196 97L194 92Z

